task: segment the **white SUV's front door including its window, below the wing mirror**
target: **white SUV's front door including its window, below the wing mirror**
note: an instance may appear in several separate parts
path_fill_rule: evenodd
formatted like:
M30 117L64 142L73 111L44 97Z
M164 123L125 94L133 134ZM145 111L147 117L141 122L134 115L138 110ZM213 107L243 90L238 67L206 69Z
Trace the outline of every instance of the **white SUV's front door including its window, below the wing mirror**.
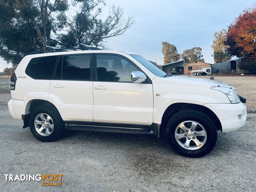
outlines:
M152 82L133 83L132 71L140 69L124 56L94 54L94 122L152 124Z

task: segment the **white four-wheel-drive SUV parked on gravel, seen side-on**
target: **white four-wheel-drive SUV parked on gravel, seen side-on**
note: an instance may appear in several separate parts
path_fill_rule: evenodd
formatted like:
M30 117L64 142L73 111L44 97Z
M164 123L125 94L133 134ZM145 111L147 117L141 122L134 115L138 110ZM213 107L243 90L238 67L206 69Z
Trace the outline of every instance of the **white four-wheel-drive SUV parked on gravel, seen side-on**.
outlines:
M217 131L246 122L246 106L225 83L169 76L138 55L112 50L25 56L10 81L10 114L40 141L65 129L164 136L179 154L208 154Z

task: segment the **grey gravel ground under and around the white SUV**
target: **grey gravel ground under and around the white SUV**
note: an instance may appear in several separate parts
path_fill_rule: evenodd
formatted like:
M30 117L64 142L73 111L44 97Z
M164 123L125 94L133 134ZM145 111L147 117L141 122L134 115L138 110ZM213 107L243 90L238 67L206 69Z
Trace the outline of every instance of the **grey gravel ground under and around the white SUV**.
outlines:
M218 132L207 156L185 158L154 136L67 132L40 142L10 116L7 86L0 84L0 191L255 191L256 112L244 128ZM9 182L4 174L63 174L63 185Z

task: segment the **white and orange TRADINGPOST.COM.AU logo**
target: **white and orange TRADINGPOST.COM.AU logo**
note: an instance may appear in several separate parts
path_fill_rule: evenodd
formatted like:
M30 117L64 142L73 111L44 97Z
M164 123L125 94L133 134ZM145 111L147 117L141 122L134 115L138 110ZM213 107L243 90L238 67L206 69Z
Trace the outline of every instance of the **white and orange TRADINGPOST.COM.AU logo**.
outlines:
M41 186L62 186L62 174L4 174L6 181L41 181Z

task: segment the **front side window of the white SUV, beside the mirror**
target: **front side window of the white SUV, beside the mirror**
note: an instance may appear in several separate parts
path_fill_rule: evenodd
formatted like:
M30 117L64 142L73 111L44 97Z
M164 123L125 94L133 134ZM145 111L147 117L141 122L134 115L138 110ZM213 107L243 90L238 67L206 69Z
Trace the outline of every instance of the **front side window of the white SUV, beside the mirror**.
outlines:
M115 55L97 55L96 65L99 81L132 82L132 71L138 71L131 62Z

